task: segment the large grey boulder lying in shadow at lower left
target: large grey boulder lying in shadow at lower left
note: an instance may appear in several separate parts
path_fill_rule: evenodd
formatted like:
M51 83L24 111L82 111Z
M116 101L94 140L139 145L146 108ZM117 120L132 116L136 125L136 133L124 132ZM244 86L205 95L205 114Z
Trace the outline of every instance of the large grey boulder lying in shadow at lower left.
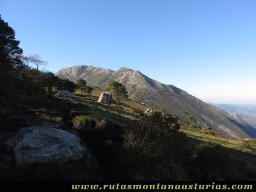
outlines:
M20 130L6 145L12 148L18 165L81 160L87 152L75 134L42 126Z

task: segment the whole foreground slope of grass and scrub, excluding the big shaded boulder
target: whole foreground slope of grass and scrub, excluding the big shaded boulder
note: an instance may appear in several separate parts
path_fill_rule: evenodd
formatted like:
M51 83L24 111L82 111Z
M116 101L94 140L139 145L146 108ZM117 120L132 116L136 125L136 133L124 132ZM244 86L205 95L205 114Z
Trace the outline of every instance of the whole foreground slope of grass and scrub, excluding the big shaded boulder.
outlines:
M180 121L176 129L175 117L173 127L165 129L158 121L141 117L147 107L135 101L100 105L100 92L93 90L91 99L77 94L77 100L48 96L6 104L0 124L1 180L256 179L255 139L227 139ZM18 115L23 119L17 120ZM80 160L17 165L5 142L27 126L75 134L87 152Z

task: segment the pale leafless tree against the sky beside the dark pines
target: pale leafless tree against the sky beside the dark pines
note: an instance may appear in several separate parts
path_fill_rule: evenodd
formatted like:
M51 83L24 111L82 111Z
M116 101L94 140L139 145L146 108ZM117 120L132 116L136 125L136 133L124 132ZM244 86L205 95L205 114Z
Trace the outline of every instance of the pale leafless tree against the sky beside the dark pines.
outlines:
M39 55L20 56L21 60L29 67L35 67L37 70L44 71L48 62L43 61Z

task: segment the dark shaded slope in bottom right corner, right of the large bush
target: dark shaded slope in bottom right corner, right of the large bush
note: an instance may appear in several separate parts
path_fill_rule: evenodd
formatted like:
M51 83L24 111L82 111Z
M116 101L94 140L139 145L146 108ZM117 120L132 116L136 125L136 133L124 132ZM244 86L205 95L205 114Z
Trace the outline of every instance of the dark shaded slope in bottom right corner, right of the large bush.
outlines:
M255 180L256 155L209 141L186 138L197 154L193 164L201 171L203 180Z

